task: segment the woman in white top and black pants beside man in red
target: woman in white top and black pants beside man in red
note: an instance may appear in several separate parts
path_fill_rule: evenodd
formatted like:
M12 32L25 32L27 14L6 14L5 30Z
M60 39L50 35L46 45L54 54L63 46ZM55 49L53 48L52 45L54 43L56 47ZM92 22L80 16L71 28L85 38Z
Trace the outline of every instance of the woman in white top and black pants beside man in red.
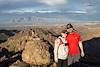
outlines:
M67 34L66 31L61 32L61 36L59 36L55 40L54 47L54 59L57 63L57 67L67 67L67 56L68 56L68 46L66 41Z

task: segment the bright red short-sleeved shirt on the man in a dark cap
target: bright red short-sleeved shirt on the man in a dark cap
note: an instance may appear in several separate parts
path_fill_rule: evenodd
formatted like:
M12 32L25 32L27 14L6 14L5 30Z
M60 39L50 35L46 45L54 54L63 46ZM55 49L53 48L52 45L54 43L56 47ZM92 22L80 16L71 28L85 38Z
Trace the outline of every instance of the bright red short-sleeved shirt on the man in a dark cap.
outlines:
M78 32L75 32L74 34L69 33L67 36L67 42L69 44L69 54L71 55L77 55L80 54L79 51L79 41L80 41L80 35Z

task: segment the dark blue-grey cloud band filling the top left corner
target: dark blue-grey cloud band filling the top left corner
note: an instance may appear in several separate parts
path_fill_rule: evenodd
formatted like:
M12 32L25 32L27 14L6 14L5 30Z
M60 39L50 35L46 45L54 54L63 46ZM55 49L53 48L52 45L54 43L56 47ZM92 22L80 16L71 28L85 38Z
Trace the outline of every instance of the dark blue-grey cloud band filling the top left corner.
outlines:
M48 6L34 0L0 0L0 12L24 8L39 9L43 7L47 8Z

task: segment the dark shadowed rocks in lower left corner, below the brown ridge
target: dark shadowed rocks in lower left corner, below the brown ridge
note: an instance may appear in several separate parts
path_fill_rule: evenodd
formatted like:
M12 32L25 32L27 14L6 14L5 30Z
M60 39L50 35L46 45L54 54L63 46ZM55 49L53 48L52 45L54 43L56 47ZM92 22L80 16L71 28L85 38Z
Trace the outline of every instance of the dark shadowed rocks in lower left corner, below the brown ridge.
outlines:
M21 52L9 52L5 48L0 48L0 67L9 67L17 60L21 60Z

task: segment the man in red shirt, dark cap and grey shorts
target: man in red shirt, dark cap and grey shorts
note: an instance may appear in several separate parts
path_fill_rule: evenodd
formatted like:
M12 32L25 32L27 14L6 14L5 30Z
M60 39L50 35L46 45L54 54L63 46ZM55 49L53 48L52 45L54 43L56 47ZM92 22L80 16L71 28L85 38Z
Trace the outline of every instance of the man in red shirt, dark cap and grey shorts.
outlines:
M84 57L84 50L79 33L71 24L67 24L68 35L66 37L69 46L68 65L78 62L81 57Z

